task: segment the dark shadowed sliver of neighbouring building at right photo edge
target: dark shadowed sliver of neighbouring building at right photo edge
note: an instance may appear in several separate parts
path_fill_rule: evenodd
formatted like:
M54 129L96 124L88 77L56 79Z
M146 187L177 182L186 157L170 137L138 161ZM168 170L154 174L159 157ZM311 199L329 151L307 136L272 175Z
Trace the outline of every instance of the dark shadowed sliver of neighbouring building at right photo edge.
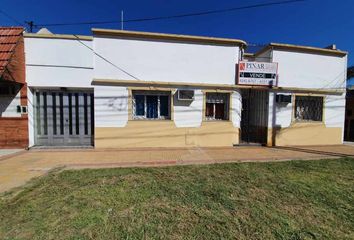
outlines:
M347 99L345 113L344 140L354 141L354 66L347 70Z

